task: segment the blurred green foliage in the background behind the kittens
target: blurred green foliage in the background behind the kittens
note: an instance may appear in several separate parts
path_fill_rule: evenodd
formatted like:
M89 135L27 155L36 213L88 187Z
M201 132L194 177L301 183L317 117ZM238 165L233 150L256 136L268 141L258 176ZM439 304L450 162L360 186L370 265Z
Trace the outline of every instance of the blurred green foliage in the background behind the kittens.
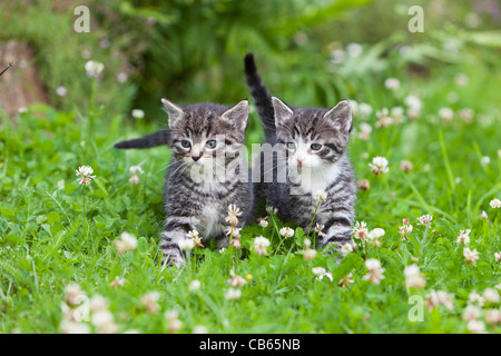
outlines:
M79 4L90 9L89 33L73 30ZM422 33L407 30L415 4L424 9ZM501 63L498 0L24 0L2 7L0 42L30 43L29 65L38 66L53 106L88 105L90 83L81 73L94 59L106 67L97 98L104 112L130 117L140 108L145 121L158 123L165 122L161 97L227 105L249 98L247 51L273 93L297 107L330 107L341 98L384 106L385 78L412 86L432 72L489 73ZM66 97L56 93L61 86Z

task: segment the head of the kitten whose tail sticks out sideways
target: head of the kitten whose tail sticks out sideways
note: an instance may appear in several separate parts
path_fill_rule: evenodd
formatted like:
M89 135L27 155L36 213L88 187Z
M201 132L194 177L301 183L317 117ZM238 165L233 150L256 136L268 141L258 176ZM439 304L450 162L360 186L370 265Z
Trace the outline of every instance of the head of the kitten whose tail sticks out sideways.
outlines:
M215 157L237 151L245 142L249 107L214 103L178 106L161 99L169 116L173 156L188 166L212 166Z

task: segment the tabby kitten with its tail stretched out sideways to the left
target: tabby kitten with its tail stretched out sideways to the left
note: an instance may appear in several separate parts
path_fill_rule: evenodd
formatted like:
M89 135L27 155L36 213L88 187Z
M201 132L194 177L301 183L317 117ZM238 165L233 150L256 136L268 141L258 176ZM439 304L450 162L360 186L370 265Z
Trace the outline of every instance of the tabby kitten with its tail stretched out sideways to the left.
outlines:
M228 108L214 103L178 106L161 100L169 129L117 144L117 148L147 148L168 144L173 154L165 181L164 260L179 266L188 233L215 238L217 248L228 246L225 228L228 206L242 209L238 226L254 216L253 185L248 179L245 144L249 107L247 100Z

